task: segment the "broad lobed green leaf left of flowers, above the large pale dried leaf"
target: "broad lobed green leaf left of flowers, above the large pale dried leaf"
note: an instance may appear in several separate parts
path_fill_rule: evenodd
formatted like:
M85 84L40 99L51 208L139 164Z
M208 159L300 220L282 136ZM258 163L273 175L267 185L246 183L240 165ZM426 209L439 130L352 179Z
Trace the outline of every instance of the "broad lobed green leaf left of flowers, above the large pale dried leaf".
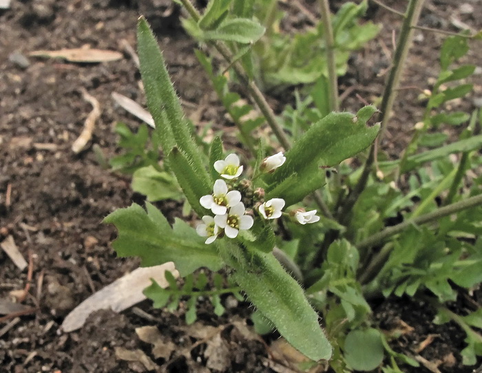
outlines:
M200 267L219 270L222 261L214 246L204 244L193 228L182 234L170 228L158 209L147 203L147 213L138 204L118 209L105 217L105 223L112 223L118 231L112 243L120 257L140 257L142 266L156 266L174 262L182 277Z

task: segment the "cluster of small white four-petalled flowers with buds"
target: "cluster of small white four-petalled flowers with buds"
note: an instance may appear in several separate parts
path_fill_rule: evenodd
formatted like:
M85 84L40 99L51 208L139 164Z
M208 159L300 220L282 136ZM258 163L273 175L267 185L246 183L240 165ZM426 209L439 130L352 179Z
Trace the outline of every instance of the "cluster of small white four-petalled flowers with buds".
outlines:
M277 153L265 158L260 165L260 170L265 173L272 173L285 161L286 157L283 153ZM198 235L207 237L206 244L211 244L218 236L226 235L229 238L235 238L239 231L251 228L254 224L252 216L254 214L251 208L247 209L242 201L247 200L247 195L258 198L258 200L262 200L262 196L264 196L264 191L259 188L255 191L251 189L251 193L245 193L246 195L242 195L241 191L234 189L234 186L237 185L240 189L247 190L252 184L249 180L236 183L243 167L240 165L240 158L235 154L229 154L224 160L217 160L213 166L220 173L222 179L216 180L213 193L203 195L199 202L202 207L211 210L214 216L203 216L202 223L196 228ZM248 207L254 204L253 198L250 198L249 202L251 203ZM282 198L272 198L266 202L260 202L256 207L263 219L277 219L283 214L282 209L285 202ZM295 221L300 224L315 223L319 220L315 213L315 210L306 212L304 209L299 209L295 212Z

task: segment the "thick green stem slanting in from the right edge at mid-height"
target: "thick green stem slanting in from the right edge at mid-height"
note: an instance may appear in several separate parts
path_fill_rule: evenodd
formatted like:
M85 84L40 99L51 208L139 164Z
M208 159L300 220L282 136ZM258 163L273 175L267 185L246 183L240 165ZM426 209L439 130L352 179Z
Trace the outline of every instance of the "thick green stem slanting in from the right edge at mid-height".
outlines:
M375 235L371 235L367 239L364 239L362 242L359 242L359 244L357 244L356 246L357 248L375 246L377 244L380 244L381 242L384 242L386 238L405 231L406 228L408 228L409 226L425 224L434 220L439 220L441 217L448 216L453 213L458 213L459 211L470 209L471 207L479 206L480 204L482 204L482 194L474 195L473 197L467 198L466 200L461 200L459 202L449 204L448 206L443 206L440 209L431 211L430 213L426 213L424 215L417 216L413 219L406 220L405 222L402 222L395 226L389 226L383 231L375 233Z

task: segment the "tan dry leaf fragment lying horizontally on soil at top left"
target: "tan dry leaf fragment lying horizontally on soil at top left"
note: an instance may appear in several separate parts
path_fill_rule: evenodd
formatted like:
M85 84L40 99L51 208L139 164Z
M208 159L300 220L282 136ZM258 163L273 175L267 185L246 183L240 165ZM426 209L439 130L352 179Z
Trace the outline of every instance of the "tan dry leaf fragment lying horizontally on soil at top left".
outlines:
M98 63L120 60L123 55L114 50L74 48L62 50L35 50L28 54L32 57L63 58L70 62Z

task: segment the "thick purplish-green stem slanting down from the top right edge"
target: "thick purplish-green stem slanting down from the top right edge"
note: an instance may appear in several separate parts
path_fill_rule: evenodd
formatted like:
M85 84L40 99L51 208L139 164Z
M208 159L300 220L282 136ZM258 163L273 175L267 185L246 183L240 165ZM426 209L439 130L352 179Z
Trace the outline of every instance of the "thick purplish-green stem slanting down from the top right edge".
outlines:
M351 209L357 202L359 195L362 193L362 191L364 191L366 187L368 175L370 175L373 163L375 162L375 158L377 157L377 155L375 154L377 143L380 142L381 139L384 137L388 124L388 119L390 118L390 114L392 112L393 103L395 103L401 73L406 62L408 50L410 49L410 45L412 44L413 27L417 24L422 8L423 0L410 0L410 2L408 3L407 11L404 16L404 23L401 25L400 36L397 41L395 54L393 56L392 68L390 69L390 73L388 74L384 94L381 98L381 114L379 116L379 121L381 122L380 133L377 140L375 140L372 147L370 148L370 154L365 162L362 175L360 176L355 189L353 189L353 192L350 193L351 195L349 195L346 199L346 203L342 208L343 215L341 216L347 216L348 213L350 213Z

